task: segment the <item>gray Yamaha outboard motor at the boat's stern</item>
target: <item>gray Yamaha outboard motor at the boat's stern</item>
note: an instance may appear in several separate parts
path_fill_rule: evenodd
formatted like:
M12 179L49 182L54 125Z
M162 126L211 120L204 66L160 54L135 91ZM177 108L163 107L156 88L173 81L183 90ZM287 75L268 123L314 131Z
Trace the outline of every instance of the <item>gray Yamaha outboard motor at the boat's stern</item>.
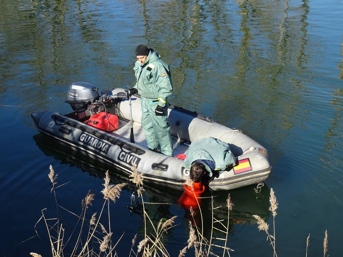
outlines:
M74 111L87 109L87 105L92 105L99 100L98 88L87 82L74 82L69 86L67 100Z

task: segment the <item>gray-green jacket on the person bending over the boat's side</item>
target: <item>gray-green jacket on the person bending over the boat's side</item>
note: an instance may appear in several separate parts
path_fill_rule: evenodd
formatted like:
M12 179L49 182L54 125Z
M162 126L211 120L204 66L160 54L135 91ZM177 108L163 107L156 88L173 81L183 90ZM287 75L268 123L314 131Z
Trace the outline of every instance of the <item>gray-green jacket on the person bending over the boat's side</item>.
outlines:
M219 173L222 173L227 167L233 166L236 163L230 146L214 137L200 138L191 143L184 161L185 168L189 169L196 160L213 161L215 164L214 170L219 171ZM212 176L211 168L205 163L204 165L209 175Z

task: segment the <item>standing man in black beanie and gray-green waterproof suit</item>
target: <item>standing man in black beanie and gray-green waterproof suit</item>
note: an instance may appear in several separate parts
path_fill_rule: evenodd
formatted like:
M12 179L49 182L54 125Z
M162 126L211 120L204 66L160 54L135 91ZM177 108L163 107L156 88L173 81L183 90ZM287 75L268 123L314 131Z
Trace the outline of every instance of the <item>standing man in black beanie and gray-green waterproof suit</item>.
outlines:
M150 150L173 156L169 131L167 97L173 93L169 65L153 48L139 45L135 49L137 62L133 68L137 83L128 97L141 95L142 128Z

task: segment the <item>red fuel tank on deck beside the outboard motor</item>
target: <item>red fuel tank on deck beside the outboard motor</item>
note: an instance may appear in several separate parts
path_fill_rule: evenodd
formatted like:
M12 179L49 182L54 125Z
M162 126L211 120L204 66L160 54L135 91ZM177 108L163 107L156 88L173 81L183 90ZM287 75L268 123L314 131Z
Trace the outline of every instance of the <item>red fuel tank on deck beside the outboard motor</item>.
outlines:
M118 117L108 112L94 114L84 123L105 132L112 132L119 128Z

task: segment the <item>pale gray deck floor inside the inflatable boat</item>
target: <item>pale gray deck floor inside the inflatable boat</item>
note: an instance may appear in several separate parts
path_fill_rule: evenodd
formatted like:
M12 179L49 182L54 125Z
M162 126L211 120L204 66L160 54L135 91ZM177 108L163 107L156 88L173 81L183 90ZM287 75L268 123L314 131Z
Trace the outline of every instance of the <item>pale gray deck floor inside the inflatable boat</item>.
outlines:
M133 135L134 135L135 144L148 149L141 124L133 122L132 125L133 125ZM130 141L130 131L131 131L130 121L119 119L119 129L114 132L111 132L111 134L114 134L122 139ZM180 141L180 139L175 138L173 136L171 138L173 139L174 156L178 154L186 154L189 148L188 142Z

